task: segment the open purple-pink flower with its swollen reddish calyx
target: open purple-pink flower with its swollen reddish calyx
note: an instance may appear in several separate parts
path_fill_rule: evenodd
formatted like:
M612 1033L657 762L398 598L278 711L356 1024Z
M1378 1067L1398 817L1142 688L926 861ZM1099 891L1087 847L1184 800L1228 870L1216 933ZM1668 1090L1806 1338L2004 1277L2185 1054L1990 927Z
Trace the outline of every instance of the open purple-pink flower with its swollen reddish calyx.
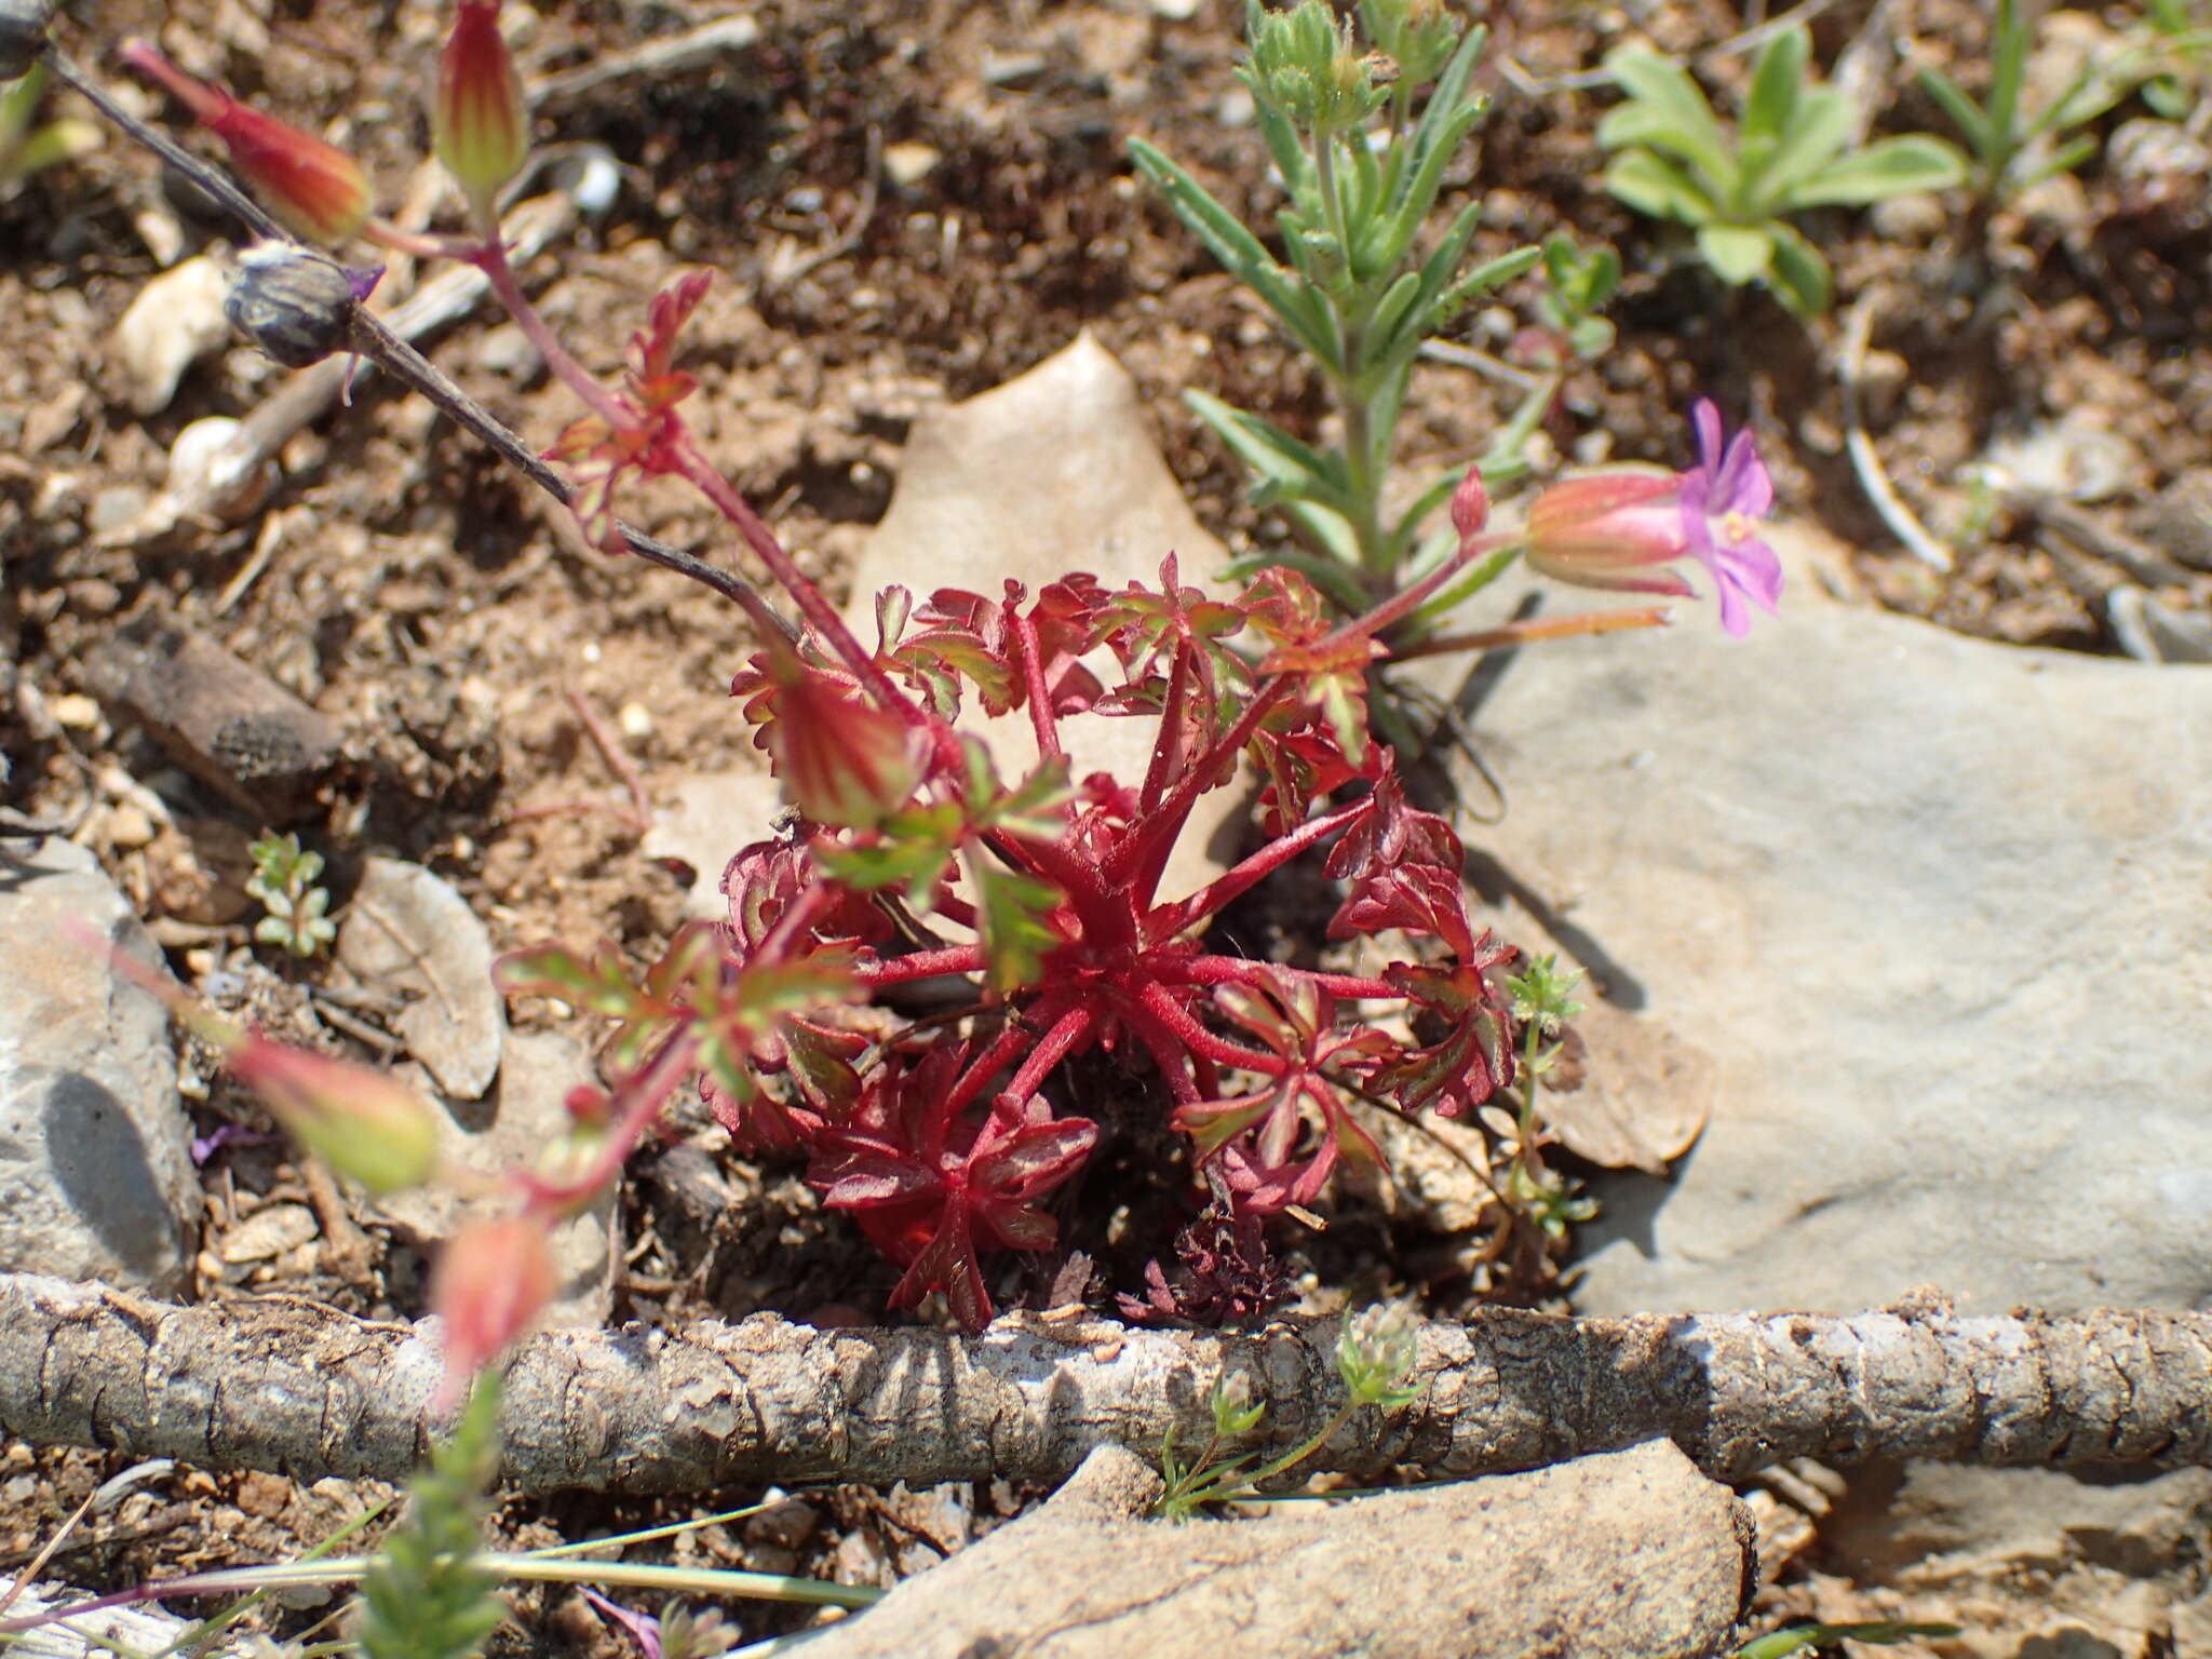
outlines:
M1750 431L1721 445L1721 411L1699 398L1699 465L1686 473L1606 471L1568 478L1528 509L1528 564L1586 588L1690 595L1679 571L1692 557L1712 573L1721 626L1752 626L1745 599L1774 613L1783 566L1752 526L1774 507L1774 484Z

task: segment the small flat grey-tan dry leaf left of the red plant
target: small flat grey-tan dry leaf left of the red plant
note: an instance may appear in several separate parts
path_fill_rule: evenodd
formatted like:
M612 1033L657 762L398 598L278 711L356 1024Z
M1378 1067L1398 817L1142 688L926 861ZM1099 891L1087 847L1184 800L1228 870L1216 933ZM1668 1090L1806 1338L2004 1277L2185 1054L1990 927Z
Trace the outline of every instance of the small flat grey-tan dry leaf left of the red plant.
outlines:
M394 1026L445 1095L480 1099L491 1088L507 1009L491 982L491 933L451 883L369 858L338 929L338 962L411 998Z

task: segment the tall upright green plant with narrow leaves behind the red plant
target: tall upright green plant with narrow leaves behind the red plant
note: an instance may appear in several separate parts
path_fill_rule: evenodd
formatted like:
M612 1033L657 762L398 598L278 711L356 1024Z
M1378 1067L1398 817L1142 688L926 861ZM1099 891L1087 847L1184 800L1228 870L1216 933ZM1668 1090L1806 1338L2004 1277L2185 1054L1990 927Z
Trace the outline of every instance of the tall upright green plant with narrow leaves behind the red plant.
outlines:
M1325 0L1292 11L1248 0L1250 62L1237 73L1283 179L1274 223L1283 259L1181 166L1130 144L1177 217L1329 380L1343 416L1336 447L1303 442L1203 392L1186 396L1250 471L1254 502L1279 511L1303 542L1303 551L1250 564L1290 564L1352 613L1411 580L1422 526L1460 480L1458 471L1440 476L1402 513L1383 509L1422 343L1537 259L1524 248L1471 261L1480 201L1431 223L1444 170L1489 106L1471 86L1484 31L1440 0L1363 0L1360 15L1374 51ZM1427 553L1444 546L1440 538Z

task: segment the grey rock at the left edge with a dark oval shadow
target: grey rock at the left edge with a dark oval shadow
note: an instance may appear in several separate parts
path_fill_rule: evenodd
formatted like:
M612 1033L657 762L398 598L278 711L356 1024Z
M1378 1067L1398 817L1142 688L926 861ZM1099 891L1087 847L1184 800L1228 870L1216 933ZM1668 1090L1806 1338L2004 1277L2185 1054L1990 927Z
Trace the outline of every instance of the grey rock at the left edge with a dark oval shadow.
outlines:
M66 927L166 973L88 852L0 841L0 1270L175 1292L199 1177L168 1013Z

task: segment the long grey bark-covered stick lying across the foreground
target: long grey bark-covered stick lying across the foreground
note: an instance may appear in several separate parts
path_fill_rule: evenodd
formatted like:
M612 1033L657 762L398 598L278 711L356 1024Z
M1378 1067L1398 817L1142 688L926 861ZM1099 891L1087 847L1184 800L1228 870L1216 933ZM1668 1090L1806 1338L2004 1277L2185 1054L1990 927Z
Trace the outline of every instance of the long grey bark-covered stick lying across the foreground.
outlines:
M706 1491L799 1480L1060 1480L1119 1442L1208 1429L1252 1376L1290 1442L1340 1400L1336 1323L1259 1336L1020 1314L982 1336L754 1316L551 1332L509 1371L513 1489ZM407 1473L434 1431L436 1327L296 1301L170 1307L0 1276L0 1433L299 1478ZM1307 1464L1535 1469L1666 1436L1741 1478L1783 1458L2212 1464L2212 1314L1551 1318L1420 1332L1422 1394L1358 1411Z

